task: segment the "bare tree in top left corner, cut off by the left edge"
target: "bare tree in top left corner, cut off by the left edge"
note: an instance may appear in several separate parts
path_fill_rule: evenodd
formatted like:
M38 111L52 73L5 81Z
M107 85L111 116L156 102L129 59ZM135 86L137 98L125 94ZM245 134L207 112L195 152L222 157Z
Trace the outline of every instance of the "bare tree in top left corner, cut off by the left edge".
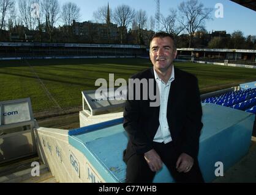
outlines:
M5 28L7 13L9 13L14 4L15 1L13 0L0 0L0 30Z

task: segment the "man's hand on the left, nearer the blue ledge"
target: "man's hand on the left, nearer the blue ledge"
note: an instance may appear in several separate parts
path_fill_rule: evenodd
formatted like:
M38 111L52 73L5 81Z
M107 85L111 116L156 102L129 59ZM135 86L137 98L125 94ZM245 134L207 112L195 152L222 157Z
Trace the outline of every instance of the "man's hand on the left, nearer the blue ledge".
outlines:
M144 157L151 171L157 172L162 169L162 160L154 149L146 152Z

